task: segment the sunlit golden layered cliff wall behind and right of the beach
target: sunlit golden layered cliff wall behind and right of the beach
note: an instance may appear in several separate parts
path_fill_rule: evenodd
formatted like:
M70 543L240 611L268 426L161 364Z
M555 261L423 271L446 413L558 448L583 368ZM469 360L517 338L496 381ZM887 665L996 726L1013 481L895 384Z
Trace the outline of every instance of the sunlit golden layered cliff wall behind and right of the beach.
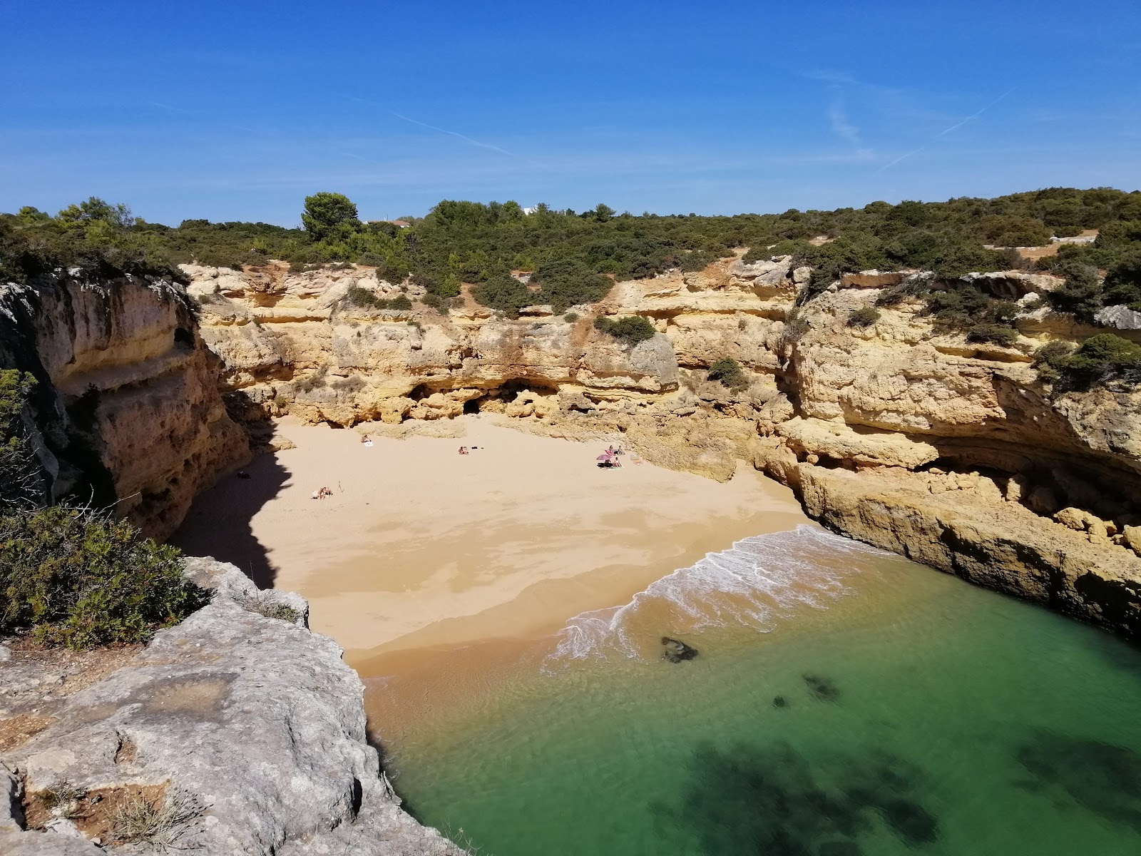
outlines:
M833 528L1141 632L1141 394L1055 394L1038 379L1036 347L1094 332L1041 307L1053 277L974 277L1023 306L1020 339L1002 347L937 329L912 300L847 323L923 274L845 275L798 308L809 270L786 258L620 282L566 317L529 307L518 320L468 298L444 315L359 308L350 288L402 290L367 268L186 272L248 418L393 425L478 410L543 433L618 429L648 459L715 478L745 458ZM593 328L599 315L641 315L658 333L630 348ZM707 379L723 357L743 366L741 388Z

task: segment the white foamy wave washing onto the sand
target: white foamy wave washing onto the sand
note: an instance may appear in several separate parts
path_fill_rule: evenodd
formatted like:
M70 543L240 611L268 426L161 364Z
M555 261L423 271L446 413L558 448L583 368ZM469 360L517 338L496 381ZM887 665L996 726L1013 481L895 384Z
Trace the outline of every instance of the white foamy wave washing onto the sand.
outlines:
M647 608L664 607L686 632L727 625L771 630L782 615L803 606L823 609L843 596L844 580L876 556L890 554L807 525L743 539L650 583L625 606L570 619L548 667L612 652L638 656L632 624Z

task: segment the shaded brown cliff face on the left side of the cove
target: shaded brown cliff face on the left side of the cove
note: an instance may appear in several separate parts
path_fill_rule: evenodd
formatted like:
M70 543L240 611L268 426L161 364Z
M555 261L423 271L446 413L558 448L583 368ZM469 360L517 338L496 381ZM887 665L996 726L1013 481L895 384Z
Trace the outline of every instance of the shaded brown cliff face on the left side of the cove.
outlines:
M181 286L63 274L2 285L0 324L0 364L39 381L35 439L54 499L118 501L165 538L200 491L248 459Z

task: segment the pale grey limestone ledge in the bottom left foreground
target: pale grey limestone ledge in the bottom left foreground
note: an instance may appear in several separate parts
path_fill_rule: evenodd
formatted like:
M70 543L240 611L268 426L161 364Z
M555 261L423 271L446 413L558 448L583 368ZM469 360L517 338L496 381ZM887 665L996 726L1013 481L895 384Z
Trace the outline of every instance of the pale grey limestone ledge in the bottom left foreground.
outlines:
M0 662L0 853L460 856L400 810L361 679L306 601L210 559L187 572L212 601L78 692L82 675ZM139 797L177 810L124 840Z

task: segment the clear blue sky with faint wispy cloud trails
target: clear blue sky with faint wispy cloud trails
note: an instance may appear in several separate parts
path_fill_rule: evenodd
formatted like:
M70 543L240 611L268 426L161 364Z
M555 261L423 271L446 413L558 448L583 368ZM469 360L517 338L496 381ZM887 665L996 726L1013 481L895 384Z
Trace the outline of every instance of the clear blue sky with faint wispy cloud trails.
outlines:
M0 3L0 210L769 212L1141 187L1141 3Z

